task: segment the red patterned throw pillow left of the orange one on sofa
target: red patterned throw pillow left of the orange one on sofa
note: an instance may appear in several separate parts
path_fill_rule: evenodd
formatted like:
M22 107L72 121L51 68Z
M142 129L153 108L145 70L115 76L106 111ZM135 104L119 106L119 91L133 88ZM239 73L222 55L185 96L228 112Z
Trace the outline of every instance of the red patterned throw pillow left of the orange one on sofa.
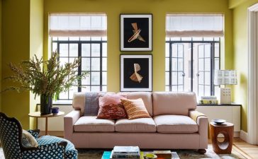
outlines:
M123 119L126 118L125 109L121 103L125 97L117 94L106 94L99 97L98 119Z

